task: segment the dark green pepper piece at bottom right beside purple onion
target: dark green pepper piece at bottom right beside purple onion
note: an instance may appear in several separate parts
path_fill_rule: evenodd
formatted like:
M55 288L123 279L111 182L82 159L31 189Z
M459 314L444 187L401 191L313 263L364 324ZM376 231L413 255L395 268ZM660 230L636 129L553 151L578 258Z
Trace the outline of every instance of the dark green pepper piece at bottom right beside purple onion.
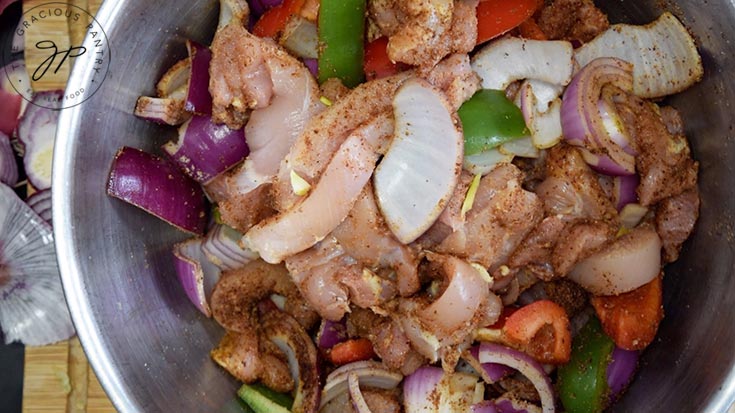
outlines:
M599 413L609 401L607 366L615 343L592 317L572 342L569 363L558 371L558 390L567 413Z

